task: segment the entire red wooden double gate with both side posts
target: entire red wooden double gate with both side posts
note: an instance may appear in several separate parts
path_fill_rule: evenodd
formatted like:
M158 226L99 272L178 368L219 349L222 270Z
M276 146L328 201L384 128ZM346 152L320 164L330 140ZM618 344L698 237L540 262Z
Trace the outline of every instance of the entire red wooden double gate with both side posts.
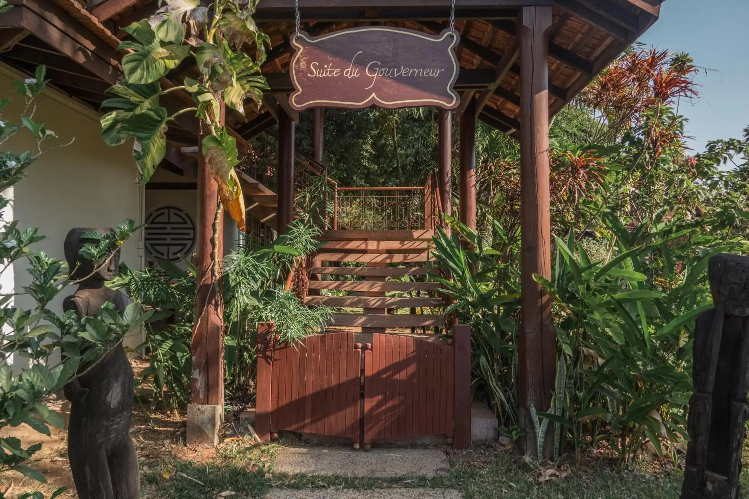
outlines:
M258 436L268 441L285 429L351 438L358 447L360 441L369 446L373 440L445 435L456 448L467 447L470 328L456 325L454 343L440 337L373 334L362 362L354 333L318 334L288 345L276 343L272 324L259 325Z

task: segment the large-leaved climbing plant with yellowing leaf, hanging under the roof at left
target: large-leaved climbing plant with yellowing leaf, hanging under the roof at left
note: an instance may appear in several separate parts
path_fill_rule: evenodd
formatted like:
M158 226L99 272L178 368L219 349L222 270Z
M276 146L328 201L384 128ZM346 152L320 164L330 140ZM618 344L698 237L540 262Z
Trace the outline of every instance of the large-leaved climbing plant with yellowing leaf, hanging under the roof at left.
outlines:
M198 117L207 130L201 153L218 183L224 209L240 230L245 229L245 210L234 171L239 154L222 116L225 105L244 114L246 97L259 105L267 88L260 67L270 39L252 19L257 3L215 0L205 6L200 0L164 1L150 19L124 28L133 37L119 47L130 51L122 58L124 80L109 88L116 97L102 104L114 109L101 119L104 141L119 145L133 139L133 158L142 183L148 182L166 155L169 123L183 114ZM255 56L247 55L243 46ZM186 77L184 85L172 85L167 73L189 56L195 58L201 78ZM160 98L175 91L189 93L195 105L172 110L163 107Z

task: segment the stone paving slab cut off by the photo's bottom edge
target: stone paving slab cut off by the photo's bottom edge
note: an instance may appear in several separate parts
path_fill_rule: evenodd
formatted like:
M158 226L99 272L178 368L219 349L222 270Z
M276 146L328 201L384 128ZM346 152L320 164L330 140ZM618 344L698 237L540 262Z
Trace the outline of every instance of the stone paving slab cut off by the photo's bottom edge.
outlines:
M452 489L276 489L265 499L463 499Z

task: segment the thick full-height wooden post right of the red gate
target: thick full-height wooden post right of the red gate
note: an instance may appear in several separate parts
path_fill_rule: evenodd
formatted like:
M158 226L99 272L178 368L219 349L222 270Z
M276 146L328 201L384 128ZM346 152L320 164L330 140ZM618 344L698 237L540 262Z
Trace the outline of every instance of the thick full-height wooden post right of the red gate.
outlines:
M551 6L522 7L521 37L521 331L518 338L520 423L524 453L536 454L530 408L546 412L557 376L557 335L551 300L533 279L551 279L549 229L548 33ZM551 428L554 425L549 425ZM553 430L552 430L553 431ZM545 438L551 459L554 438Z

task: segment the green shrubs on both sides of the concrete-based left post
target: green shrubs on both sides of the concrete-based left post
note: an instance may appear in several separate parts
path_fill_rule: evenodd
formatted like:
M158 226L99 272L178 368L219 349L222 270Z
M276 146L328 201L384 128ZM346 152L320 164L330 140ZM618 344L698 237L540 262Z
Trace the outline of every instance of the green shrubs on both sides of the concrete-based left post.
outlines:
M309 218L298 218L267 248L243 245L225 257L222 286L225 322L226 399L249 402L255 373L258 322L275 322L276 334L294 343L315 334L330 319L327 307L305 307L285 289L297 258L312 254L319 230ZM189 401L192 379L190 339L195 307L195 269L184 271L168 261L142 272L122 269L119 286L141 307L154 310L147 339L150 365L143 382L150 382L152 402L166 402L175 411Z

